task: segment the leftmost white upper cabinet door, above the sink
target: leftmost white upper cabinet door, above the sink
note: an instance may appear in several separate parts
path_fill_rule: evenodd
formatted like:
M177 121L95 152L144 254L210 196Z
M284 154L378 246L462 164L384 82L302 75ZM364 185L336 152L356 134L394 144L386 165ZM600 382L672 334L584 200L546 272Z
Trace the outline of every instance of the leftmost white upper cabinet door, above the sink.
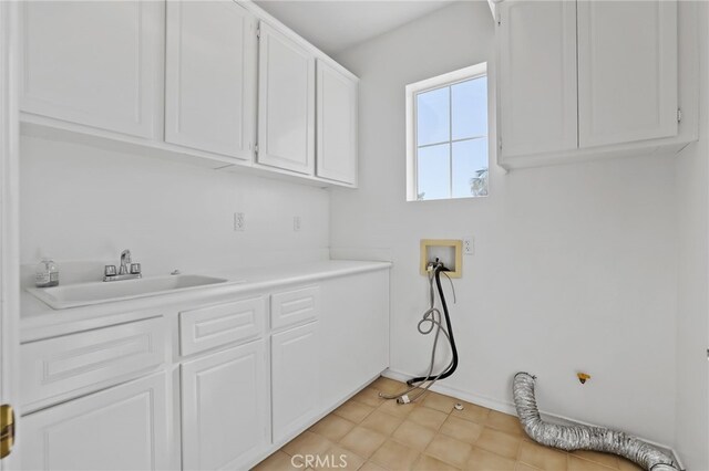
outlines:
M157 136L164 13L156 1L22 2L21 109Z

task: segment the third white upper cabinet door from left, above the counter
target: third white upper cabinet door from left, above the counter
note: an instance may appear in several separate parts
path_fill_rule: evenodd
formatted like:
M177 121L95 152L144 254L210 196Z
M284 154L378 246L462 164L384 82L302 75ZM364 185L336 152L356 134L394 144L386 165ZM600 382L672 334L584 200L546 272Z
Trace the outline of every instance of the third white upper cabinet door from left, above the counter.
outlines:
M312 175L315 57L261 21L258 74L258 163Z

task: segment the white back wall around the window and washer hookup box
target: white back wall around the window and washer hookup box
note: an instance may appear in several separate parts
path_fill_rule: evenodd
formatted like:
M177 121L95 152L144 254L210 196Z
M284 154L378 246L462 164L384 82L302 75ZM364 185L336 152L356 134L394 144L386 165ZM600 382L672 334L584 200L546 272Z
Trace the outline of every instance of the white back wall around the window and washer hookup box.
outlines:
M421 374L419 240L474 236L454 282L460 366L444 384L504 408L527 370L543 409L671 444L674 159L493 168L489 198L405 202L404 85L492 61L492 46L487 4L460 2L337 57L361 78L361 188L332 191L332 253L391 254L391 368ZM577 370L592 380L579 385Z

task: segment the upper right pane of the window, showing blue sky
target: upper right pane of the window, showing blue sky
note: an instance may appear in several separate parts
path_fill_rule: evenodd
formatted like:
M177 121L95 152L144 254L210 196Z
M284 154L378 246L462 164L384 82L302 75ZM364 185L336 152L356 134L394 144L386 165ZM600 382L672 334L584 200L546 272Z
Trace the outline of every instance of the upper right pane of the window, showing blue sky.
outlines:
M487 77L451 86L453 139L487 135Z

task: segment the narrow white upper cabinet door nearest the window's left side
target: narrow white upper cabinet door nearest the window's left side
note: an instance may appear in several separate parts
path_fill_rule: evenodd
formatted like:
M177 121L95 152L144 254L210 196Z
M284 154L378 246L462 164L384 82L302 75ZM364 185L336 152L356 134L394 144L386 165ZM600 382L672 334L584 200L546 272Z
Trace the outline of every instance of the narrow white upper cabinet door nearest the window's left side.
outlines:
M357 182L357 81L318 60L317 176Z

